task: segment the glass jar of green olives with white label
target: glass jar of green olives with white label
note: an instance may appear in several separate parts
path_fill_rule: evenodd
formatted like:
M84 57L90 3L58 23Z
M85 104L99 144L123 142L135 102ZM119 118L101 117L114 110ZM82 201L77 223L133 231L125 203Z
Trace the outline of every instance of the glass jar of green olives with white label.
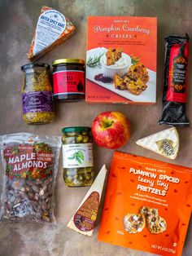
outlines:
M65 127L63 179L69 187L90 186L94 181L93 140L90 127Z

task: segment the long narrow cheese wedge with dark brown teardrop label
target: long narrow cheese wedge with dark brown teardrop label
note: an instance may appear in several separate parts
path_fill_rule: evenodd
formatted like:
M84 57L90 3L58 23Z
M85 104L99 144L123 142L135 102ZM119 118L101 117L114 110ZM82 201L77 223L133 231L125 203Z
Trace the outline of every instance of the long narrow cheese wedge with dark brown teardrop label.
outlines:
M81 205L68 223L69 228L82 235L93 235L106 174L107 169L104 165L94 180L94 183L89 188Z

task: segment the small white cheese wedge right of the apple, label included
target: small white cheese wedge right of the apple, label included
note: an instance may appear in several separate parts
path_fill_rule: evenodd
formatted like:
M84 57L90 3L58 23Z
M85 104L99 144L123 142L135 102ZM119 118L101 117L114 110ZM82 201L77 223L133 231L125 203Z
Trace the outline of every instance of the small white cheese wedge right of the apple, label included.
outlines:
M161 130L136 141L137 145L169 159L175 159L179 150L179 135L175 127Z

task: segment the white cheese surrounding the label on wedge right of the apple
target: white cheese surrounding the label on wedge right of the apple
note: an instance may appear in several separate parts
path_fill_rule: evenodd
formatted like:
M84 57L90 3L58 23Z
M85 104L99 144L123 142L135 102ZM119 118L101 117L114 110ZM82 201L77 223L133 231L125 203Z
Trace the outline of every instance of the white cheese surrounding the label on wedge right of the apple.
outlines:
M157 143L164 139L168 139L173 143L172 148L174 148L174 153L172 153L171 155L164 154L162 150L159 150L158 148ZM176 128L172 127L166 130L161 130L153 135L146 136L145 138L138 139L136 143L142 148L149 149L152 152L156 152L161 156L167 157L169 159L175 159L179 150L179 135Z

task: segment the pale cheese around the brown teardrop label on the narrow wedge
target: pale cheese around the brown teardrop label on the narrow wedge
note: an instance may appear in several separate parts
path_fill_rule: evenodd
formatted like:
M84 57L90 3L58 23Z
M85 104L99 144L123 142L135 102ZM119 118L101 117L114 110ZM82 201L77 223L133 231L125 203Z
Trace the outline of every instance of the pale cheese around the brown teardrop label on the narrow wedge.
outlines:
M101 201L101 196L102 196L102 192L103 192L103 185L104 185L104 181L105 181L105 177L107 174L107 169L106 166L104 165L102 167L102 169L99 171L98 176L96 177L96 179L94 180L94 183L91 185L91 187L89 188L89 191L86 193L84 199L81 201L81 204L79 205L79 207L77 208L76 212L81 208L81 205L84 204L84 202L88 199L88 197L90 196L90 194L92 192L98 192L99 194L99 203ZM76 213L75 213L76 214ZM75 216L75 214L73 214L71 220L68 223L68 228L71 228L72 230L74 230L75 232L78 232L82 235L85 236L92 236L94 230L91 230L89 232L83 232L80 229L78 229L73 221L73 218Z

